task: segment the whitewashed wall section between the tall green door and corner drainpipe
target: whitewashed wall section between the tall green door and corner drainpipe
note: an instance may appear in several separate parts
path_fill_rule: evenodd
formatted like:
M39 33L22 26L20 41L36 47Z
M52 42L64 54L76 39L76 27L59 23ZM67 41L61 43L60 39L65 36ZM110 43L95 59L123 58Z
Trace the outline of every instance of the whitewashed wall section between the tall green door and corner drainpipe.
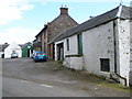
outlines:
M110 72L114 72L113 22L82 32L82 50L89 73L109 76L101 72L100 58L110 58Z

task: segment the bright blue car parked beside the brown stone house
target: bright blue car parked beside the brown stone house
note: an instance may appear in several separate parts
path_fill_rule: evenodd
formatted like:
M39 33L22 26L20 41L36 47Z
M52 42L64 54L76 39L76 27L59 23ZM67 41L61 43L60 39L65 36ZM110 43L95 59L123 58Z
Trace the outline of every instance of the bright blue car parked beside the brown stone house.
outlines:
M34 62L40 62L40 61L46 62L45 53L44 52L35 52L33 55L33 61Z

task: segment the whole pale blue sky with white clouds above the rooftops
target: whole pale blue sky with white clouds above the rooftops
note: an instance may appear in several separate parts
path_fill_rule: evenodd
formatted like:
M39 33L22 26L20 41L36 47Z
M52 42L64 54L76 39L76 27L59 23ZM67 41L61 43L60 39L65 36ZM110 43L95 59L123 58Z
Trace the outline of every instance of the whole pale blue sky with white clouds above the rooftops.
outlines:
M120 4L120 0L106 1L47 1L45 0L0 0L0 44L15 41L19 44L32 42L45 23L59 15L59 8L67 6L68 13L78 23L89 16L102 14ZM130 6L130 0L123 1ZM1 10L2 9L2 10Z

